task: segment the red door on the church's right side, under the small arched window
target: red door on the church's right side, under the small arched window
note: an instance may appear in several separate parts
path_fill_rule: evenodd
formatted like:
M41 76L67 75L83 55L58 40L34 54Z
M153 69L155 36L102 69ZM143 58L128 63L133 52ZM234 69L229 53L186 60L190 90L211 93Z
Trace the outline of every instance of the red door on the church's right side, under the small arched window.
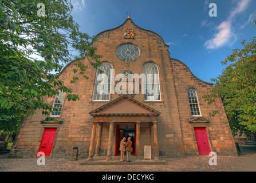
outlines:
M196 144L198 145L199 155L208 155L211 150L207 138L206 128L194 128Z

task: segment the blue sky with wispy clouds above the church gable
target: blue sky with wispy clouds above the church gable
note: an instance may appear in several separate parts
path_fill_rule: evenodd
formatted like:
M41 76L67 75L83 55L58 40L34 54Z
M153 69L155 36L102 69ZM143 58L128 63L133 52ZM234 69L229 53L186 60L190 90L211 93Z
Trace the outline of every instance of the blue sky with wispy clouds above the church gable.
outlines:
M170 45L170 57L190 67L192 73L210 82L225 68L220 63L241 41L256 37L255 0L71 0L72 16L80 31L96 35L121 25L131 12L132 21L155 31ZM210 3L217 17L210 17Z

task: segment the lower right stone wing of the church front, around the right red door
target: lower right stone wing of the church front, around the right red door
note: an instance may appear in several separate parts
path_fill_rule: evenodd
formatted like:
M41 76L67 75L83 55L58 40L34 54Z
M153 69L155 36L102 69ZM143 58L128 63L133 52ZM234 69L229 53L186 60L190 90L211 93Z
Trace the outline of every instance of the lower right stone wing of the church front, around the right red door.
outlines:
M190 105L188 102L187 89L193 88L196 91L199 101L199 107L202 117L206 118L208 123L196 124L197 127L206 127L210 149L219 155L237 155L233 135L230 126L227 123L227 117L220 98L216 102L208 105L203 101L203 96L210 93L213 86L210 83L203 82L191 73L190 69L181 61L171 59L174 69L175 89L178 98L180 122L182 124L182 135L184 149L186 154L199 154L196 146L193 124L188 121L192 116L190 114ZM210 117L212 110L218 110L215 117Z

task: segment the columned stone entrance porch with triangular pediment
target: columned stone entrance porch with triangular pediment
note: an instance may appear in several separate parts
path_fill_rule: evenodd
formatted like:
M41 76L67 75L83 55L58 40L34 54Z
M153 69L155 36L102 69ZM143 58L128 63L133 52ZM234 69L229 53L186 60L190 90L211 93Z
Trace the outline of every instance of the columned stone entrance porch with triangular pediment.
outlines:
M133 157L135 156L136 161L143 160L143 145L151 145L155 154L154 159L159 160L157 117L160 112L124 95L93 110L89 114L93 116L93 128L88 160L100 157L103 126L105 126L105 129L109 126L107 161L113 161L112 157L119 155L121 138L127 135L134 136ZM144 132L146 130L148 136L145 137L149 138L149 140L146 140L145 137L141 138L141 126L143 126L142 130Z

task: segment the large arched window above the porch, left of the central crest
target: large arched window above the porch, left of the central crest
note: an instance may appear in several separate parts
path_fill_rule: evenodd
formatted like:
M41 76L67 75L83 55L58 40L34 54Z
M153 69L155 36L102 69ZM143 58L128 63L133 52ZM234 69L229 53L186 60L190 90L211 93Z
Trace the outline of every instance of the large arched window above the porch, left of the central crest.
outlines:
M101 71L104 71L100 73ZM97 68L97 74L94 82L93 101L109 101L111 87L112 65L103 62Z

